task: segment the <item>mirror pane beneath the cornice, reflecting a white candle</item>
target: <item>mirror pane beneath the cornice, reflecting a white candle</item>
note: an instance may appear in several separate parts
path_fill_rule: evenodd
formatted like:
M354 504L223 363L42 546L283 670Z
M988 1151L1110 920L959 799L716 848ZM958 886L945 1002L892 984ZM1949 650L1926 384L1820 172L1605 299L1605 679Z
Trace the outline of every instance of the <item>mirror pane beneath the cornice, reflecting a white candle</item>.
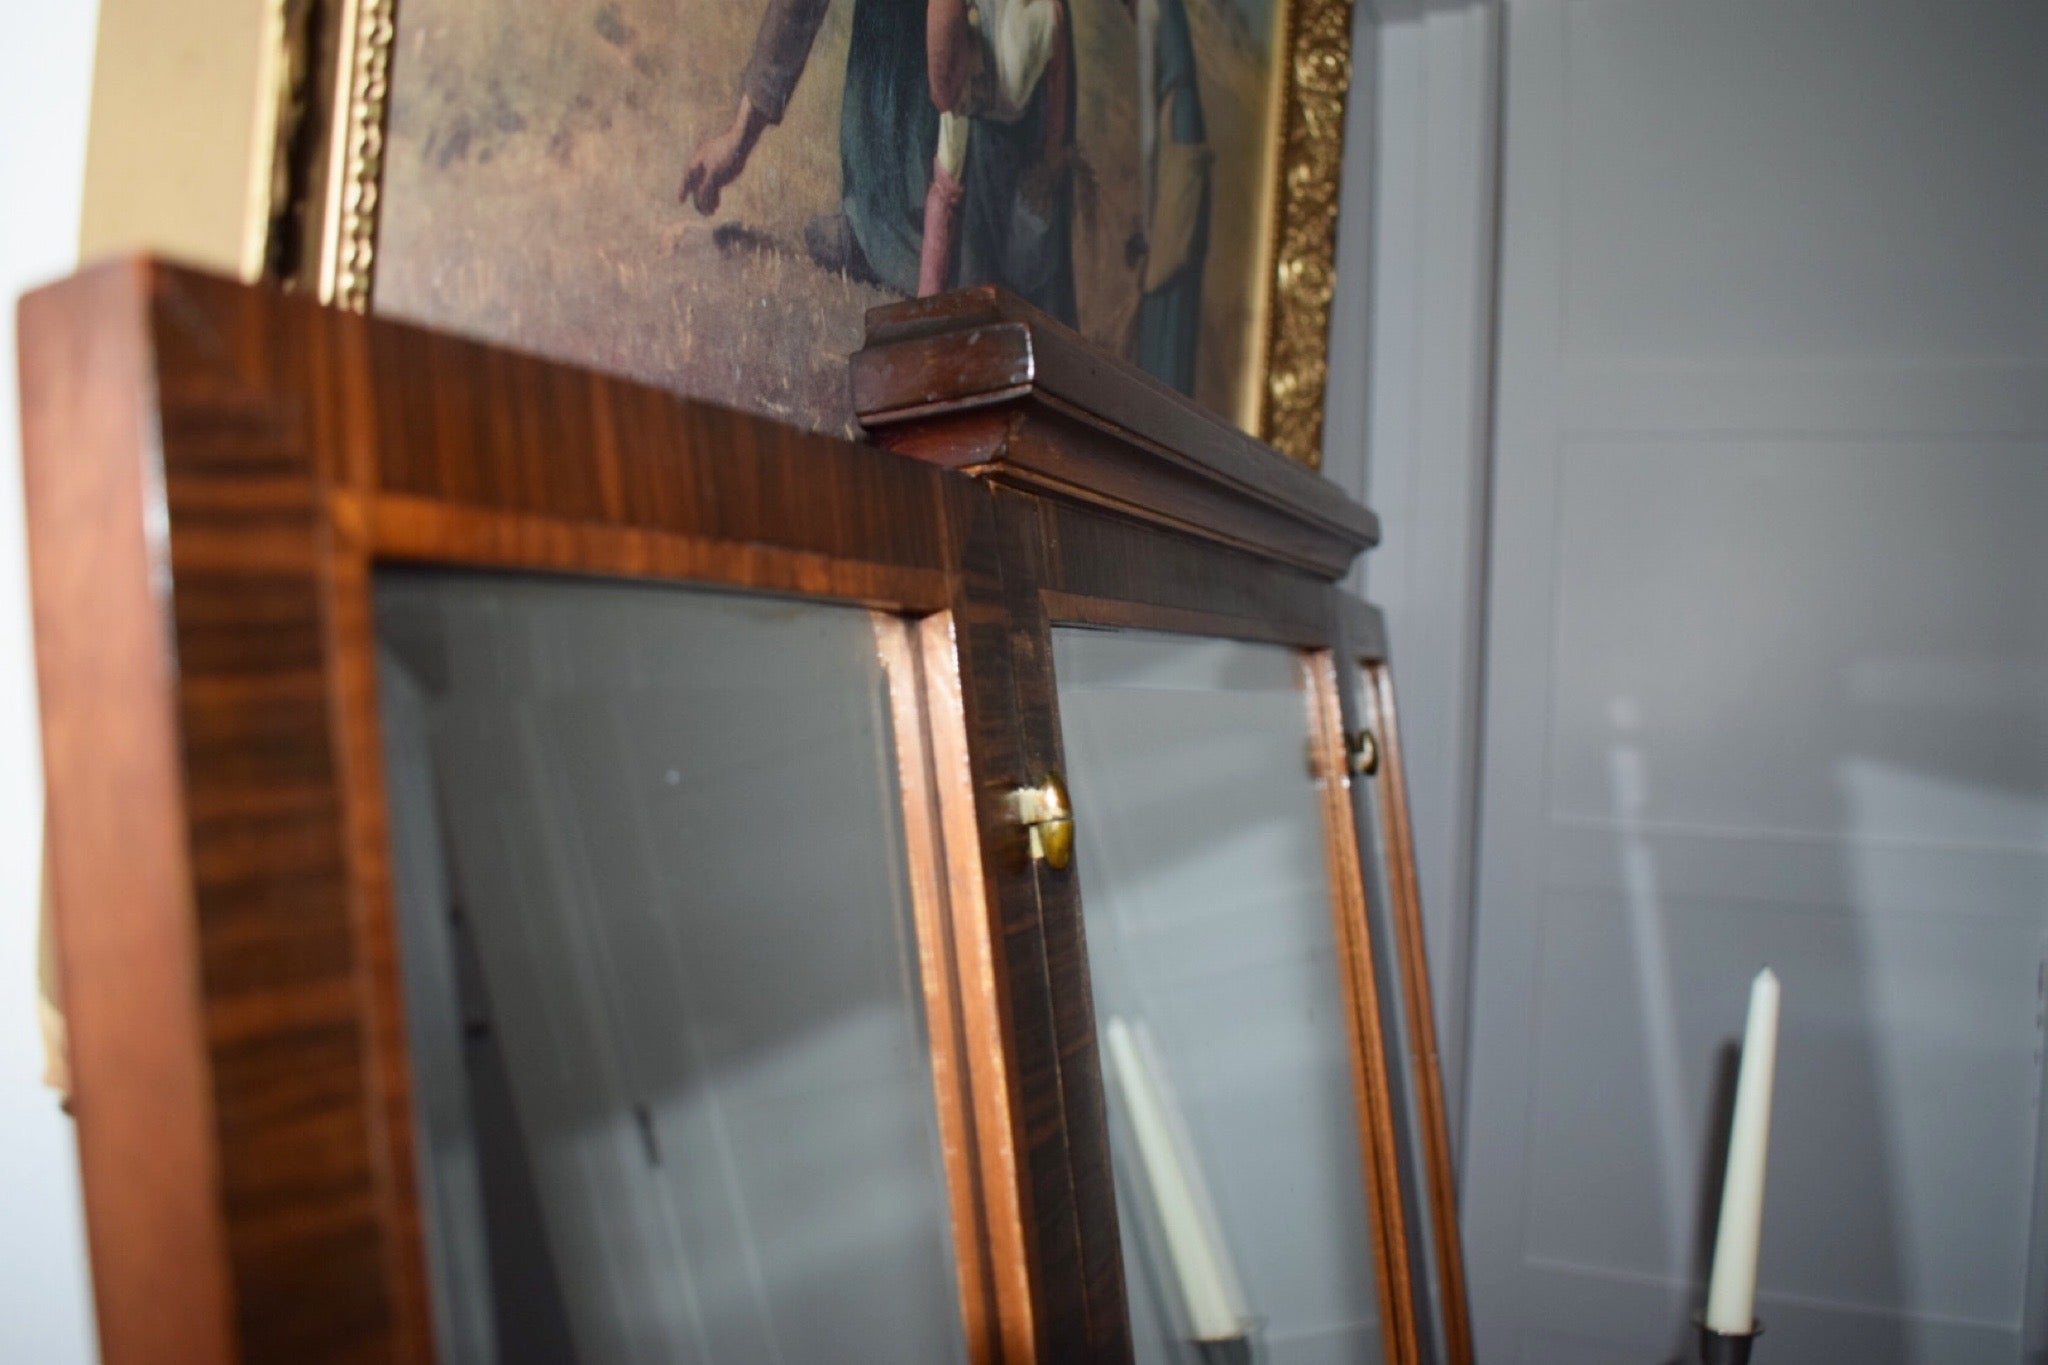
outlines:
M1055 667L1139 1361L1380 1361L1303 659L1057 630Z

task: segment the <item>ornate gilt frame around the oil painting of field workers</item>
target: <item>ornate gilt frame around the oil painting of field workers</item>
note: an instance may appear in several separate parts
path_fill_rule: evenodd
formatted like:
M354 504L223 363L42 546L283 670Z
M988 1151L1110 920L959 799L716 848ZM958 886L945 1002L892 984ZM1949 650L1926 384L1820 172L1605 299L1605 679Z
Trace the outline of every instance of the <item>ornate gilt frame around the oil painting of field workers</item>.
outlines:
M276 121L279 166L301 162L279 194L272 237L295 235L285 272L324 303L367 311L377 270L379 182L397 0L336 0L326 25L285 23L303 0L270 0L268 29L287 45L272 70L295 82ZM1255 436L1311 469L1323 463L1329 385L1329 309L1335 297L1343 115L1352 86L1352 0L1284 0L1274 80L1280 139L1270 168L1266 284L1255 309L1255 356L1239 411ZM324 31L322 31L324 29ZM311 47L311 51L307 51ZM326 96L326 108L322 108ZM311 135L307 135L311 133ZM283 176L274 176L279 184Z

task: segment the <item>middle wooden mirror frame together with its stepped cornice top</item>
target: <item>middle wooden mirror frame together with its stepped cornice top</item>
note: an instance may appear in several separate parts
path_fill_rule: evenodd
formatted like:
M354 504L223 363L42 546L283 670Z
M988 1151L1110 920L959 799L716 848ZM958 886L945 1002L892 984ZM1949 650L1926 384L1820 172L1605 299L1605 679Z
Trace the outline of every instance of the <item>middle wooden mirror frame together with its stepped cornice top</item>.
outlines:
M1389 1038L1393 958L1366 902L1352 798L1339 659L1370 608L1337 579L1376 542L1378 522L1327 481L1194 411L1128 366L1106 362L999 291L958 291L874 309L854 356L868 434L903 454L981 477L1010 612L1010 657L1032 780L1063 772L1053 677L1057 626L1161 630L1300 651L1303 739L1323 792L1323 843L1374 1232L1386 1359L1423 1359L1413 1275L1413 1183ZM1362 612L1366 616L1362 616ZM1075 810L1075 837L1087 817ZM1133 1353L1094 997L1071 870L1036 874L1051 980L1061 1107L1081 1212L1090 1359ZM1403 997L1407 993L1401 993Z

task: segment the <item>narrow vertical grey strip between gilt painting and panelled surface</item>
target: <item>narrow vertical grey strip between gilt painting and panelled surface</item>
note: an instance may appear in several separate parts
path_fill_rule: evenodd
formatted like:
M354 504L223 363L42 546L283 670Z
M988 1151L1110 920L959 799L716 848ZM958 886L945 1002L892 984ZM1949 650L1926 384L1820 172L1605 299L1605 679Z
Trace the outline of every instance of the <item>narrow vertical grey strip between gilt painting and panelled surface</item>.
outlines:
M1438 6L1378 35L1372 460L1386 610L1452 1136L1462 1134L1473 821L1493 391L1499 10Z

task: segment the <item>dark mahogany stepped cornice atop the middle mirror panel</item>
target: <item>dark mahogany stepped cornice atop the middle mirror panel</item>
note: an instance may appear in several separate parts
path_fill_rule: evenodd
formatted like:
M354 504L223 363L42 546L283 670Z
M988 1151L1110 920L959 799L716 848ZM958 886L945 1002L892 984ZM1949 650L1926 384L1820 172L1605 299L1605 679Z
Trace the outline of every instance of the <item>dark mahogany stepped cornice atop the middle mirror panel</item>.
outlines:
M1378 542L1335 483L993 284L870 309L866 327L854 411L893 450L1329 579Z

